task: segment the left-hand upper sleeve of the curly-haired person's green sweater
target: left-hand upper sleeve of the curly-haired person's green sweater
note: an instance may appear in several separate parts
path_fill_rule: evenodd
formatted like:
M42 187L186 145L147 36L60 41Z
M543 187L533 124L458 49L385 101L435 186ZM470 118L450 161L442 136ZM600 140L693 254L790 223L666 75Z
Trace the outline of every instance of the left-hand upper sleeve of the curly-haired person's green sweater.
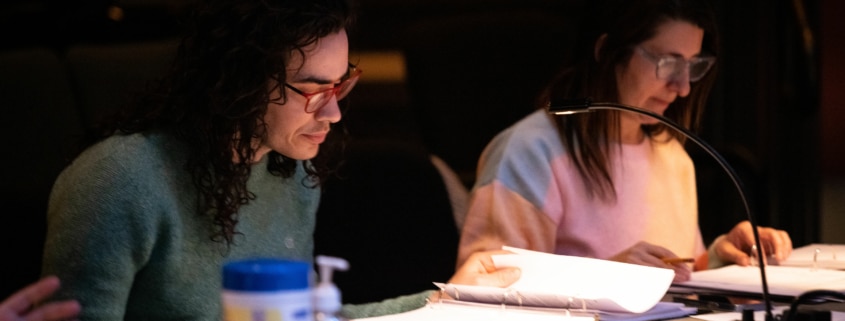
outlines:
M71 165L51 194L42 274L62 280L54 299L79 300L81 319L124 318L135 274L158 233L158 224L144 214L156 196L139 182L144 175L110 159L120 152L88 155Z

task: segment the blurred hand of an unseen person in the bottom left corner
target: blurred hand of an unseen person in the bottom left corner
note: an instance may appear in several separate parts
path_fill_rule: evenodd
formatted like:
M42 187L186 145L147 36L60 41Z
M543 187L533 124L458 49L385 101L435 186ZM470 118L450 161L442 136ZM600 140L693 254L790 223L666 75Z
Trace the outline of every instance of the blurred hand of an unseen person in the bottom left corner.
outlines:
M39 303L59 289L59 278L45 277L0 302L0 321L53 321L75 318L82 307L76 300Z

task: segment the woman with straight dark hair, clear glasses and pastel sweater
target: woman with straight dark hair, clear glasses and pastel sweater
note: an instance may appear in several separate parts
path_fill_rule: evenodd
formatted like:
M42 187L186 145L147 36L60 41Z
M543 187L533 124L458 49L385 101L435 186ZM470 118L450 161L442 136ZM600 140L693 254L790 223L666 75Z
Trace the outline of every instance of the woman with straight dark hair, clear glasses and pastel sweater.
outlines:
M545 90L538 110L483 152L458 264L509 245L673 268L679 282L693 269L748 265L747 221L706 250L682 133L635 113L546 110L550 101L591 98L695 128L716 79L712 9L705 0L608 0L592 9L574 61ZM791 253L785 231L759 231L774 259ZM677 258L694 263L666 263Z

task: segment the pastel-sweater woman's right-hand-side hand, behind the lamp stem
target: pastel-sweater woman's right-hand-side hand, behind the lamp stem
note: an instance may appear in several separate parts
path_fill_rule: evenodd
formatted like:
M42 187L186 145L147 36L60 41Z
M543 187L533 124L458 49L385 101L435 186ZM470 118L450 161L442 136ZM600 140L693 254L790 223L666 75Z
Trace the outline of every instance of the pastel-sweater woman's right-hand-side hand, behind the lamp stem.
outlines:
M763 247L763 262L771 257L777 263L785 260L792 254L792 239L783 230L770 227L758 227L760 245ZM752 246L754 245L754 232L751 229L751 222L743 221L734 226L723 238L718 238L714 244L716 254L723 262L733 262L740 266L751 264ZM754 254L756 255L756 253Z

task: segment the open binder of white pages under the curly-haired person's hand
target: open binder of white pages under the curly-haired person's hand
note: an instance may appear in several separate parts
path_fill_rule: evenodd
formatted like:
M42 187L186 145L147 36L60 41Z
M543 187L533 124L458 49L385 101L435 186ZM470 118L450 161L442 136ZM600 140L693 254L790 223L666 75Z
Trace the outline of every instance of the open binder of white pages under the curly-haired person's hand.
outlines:
M362 320L654 320L696 312L680 303L660 302L675 276L672 269L503 249L513 254L494 255L496 267L522 270L510 287L435 283L453 300Z

